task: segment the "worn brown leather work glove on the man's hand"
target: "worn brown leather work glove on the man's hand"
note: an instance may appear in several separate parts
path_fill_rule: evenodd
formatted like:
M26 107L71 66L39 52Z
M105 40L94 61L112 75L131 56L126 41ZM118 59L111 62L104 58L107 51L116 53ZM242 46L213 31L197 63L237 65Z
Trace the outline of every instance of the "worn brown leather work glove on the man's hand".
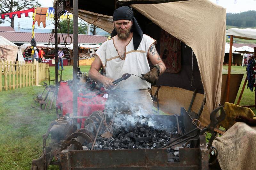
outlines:
M156 85L156 82L158 80L158 76L160 74L160 67L158 64L154 65L153 69L151 69L146 74L141 74L142 77L140 77L142 80L146 80L151 85Z

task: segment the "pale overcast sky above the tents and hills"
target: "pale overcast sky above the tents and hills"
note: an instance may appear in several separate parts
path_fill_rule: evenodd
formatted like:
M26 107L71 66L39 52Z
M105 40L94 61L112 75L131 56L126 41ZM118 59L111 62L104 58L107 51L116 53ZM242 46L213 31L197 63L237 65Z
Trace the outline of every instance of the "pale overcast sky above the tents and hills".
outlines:
M240 13L244 11L256 10L256 0L210 0L215 4L218 4L227 9L227 12L232 13ZM42 7L52 7L53 0L38 0L38 3L41 4ZM26 17L21 15L22 18L15 17L14 20L14 27L18 27L18 23L20 22L21 28L27 28L32 26L32 13L29 13L30 17ZM0 26L10 26L11 24L5 21L4 24L0 24ZM36 26L35 28L42 27L43 24L41 23L40 26ZM53 24L52 21L46 20L46 28L52 29ZM22 29L20 29L22 31Z

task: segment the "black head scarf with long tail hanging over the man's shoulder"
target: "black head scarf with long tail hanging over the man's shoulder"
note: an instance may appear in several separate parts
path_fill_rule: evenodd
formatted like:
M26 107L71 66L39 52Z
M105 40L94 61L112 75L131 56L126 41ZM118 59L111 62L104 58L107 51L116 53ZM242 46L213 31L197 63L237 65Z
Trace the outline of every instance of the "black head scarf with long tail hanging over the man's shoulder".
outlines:
M140 29L140 26L137 22L137 20L133 17L133 11L130 7L128 6L122 6L120 8L117 8L114 13L113 13L113 21L117 20L128 20L132 21L132 29L131 31L133 32L133 47L134 50L137 50L140 42L142 40L142 30ZM111 37L114 37L117 35L116 30L114 30L111 33Z

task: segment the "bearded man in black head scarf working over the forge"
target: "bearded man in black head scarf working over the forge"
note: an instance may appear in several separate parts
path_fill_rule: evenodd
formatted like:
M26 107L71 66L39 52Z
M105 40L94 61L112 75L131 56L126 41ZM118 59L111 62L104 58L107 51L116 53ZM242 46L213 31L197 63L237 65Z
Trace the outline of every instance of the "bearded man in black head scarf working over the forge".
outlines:
M155 40L142 33L133 11L123 6L114 11L111 39L103 42L96 52L89 76L109 89L108 106L124 107L129 111L151 112L151 85L155 85L158 76L165 71L165 65L155 48ZM148 59L154 65L150 70ZM99 73L103 68L103 75ZM113 81L124 73L142 75L113 85ZM136 110L134 110L136 108ZM119 110L120 111L120 110Z

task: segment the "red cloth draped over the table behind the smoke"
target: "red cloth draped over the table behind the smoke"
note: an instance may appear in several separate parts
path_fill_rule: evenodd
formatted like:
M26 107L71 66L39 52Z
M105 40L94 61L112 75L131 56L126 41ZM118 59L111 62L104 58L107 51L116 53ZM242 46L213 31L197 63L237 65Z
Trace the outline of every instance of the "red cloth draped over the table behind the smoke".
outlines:
M80 78L77 93L77 116L90 116L94 111L104 110L107 98L103 97L104 89L98 89L96 89L95 82L87 77L86 73ZM61 110L61 115L73 113L72 80L60 82L56 106ZM81 128L84 128L84 121L85 119L77 119L77 123L81 123Z

